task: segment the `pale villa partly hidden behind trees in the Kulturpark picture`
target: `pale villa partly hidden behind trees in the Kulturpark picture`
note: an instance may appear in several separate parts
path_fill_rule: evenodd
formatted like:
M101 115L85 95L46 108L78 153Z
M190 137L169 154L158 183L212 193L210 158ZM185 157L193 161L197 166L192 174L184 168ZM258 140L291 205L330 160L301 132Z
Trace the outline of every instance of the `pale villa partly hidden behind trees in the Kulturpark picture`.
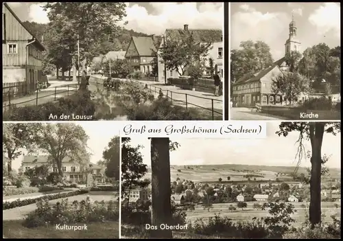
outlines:
M57 167L51 164L48 156L31 156L23 155L23 161L21 163L21 170L25 172L29 169L38 167L40 165L49 165L50 172L58 172ZM77 163L69 157L62 161L63 178L71 183L83 183L86 181L87 174L92 174L93 180L99 183L106 181L104 175L104 168L94 163L88 163L82 167L80 163Z

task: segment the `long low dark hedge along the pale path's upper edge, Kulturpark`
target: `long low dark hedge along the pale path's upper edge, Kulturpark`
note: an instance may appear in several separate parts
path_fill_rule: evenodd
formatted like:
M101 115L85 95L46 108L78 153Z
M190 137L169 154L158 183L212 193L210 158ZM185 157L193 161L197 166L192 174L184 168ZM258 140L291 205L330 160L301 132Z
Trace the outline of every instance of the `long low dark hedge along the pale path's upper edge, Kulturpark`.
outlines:
M67 198L69 196L76 196L76 195L86 194L86 193L88 193L87 190L77 190L77 191L67 192L67 193L51 194L51 195L42 196L39 198L28 198L28 199L24 199L24 200L20 200L18 198L17 200L14 200L12 202L4 202L2 204L2 209L6 210L6 209L12 209L14 207L23 207L26 205L36 203L36 201L43 200L43 199L54 200L54 199L58 199L58 198Z

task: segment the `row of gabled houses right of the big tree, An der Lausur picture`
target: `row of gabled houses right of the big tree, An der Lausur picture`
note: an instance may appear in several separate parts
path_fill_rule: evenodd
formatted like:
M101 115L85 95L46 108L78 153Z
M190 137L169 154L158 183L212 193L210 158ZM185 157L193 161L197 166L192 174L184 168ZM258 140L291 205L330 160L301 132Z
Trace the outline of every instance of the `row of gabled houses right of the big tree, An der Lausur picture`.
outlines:
M96 62L104 62L104 60L123 60L126 59L134 71L141 71L142 73L149 74L152 71L152 63L154 58L157 57L158 81L164 82L168 78L178 78L179 74L176 69L165 69L165 63L161 57L161 47L169 38L182 38L185 32L192 34L194 40L198 43L212 43L208 51L206 62L209 67L209 59L213 60L213 67L215 71L223 78L223 35L222 30L193 30L189 25L185 24L180 29L167 29L161 38L160 47L156 49L158 41L156 36L132 36L128 49L125 51L109 51L105 56L98 56L93 58L93 64ZM210 75L204 72L204 75Z

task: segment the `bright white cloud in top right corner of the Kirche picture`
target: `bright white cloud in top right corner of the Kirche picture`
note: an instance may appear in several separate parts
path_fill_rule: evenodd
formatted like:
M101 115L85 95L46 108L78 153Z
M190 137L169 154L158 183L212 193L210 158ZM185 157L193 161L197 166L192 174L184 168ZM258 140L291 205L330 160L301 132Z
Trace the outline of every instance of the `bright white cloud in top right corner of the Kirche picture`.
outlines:
M323 3L309 16L309 23L316 26L318 34L335 32L340 38L340 4Z

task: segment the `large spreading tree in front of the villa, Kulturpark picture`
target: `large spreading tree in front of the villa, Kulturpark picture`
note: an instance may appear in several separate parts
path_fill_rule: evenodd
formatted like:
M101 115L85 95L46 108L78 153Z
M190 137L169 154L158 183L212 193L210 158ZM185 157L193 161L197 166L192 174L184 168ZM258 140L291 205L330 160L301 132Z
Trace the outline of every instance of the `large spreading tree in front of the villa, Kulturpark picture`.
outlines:
M35 138L38 151L49 155L49 160L63 176L62 161L70 158L82 167L89 162L88 135L76 124L43 124Z

